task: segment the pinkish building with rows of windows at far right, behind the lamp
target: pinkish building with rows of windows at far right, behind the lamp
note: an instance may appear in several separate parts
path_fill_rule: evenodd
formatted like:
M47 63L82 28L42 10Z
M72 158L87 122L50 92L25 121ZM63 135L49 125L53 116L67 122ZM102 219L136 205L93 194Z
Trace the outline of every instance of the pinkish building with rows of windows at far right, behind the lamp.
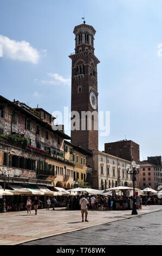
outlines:
M141 188L148 186L157 190L162 185L162 164L161 156L147 157L147 160L140 162Z

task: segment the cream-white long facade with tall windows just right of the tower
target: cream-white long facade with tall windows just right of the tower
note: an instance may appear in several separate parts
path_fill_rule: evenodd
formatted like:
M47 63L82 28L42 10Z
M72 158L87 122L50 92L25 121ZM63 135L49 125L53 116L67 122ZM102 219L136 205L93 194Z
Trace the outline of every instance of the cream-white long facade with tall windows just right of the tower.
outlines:
M101 151L93 152L93 159L88 159L92 168L92 187L99 190L116 186L133 186L131 175L127 174L126 166L130 161L120 159Z

